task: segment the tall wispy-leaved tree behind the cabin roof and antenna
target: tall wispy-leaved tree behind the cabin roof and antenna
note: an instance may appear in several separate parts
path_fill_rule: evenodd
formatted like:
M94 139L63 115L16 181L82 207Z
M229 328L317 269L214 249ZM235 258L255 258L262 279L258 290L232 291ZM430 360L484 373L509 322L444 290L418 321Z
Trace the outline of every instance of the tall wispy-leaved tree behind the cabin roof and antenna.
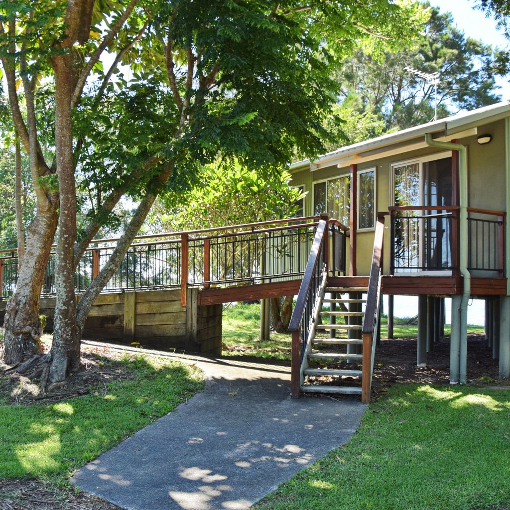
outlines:
M451 13L430 7L424 31L411 48L373 52L361 44L337 73L345 98L355 114L368 112L385 121L385 131L405 129L432 120L435 90L409 68L439 73L438 117L496 103L490 45L466 38Z

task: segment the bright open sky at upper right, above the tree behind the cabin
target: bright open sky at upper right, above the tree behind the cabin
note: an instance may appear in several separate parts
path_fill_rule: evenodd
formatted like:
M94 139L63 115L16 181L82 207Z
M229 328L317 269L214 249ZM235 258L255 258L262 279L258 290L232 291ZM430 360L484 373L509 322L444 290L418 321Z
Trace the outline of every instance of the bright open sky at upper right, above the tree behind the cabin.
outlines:
M496 21L487 18L480 10L473 9L473 0L430 0L430 4L439 7L442 12L450 11L455 24L466 36L481 39L501 49L510 49L509 41L496 30ZM510 100L510 77L499 78L497 84L500 86L498 93L501 94L501 100Z

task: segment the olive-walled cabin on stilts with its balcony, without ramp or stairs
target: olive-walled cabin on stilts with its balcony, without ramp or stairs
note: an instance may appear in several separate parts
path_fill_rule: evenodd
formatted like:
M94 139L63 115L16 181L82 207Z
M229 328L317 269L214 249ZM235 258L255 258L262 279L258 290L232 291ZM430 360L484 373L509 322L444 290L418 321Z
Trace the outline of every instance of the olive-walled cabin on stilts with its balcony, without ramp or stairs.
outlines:
M506 218L510 104L341 147L314 161L293 163L290 170L292 184L307 193L300 205L303 215L328 214L348 226L346 276L363 282L360 277L371 274L374 250L379 249L385 254L384 262L379 261L381 292L419 296L418 366L426 364L426 352L443 320L442 298L448 296L452 298L450 382L466 382L467 304L476 297L486 300L486 327L500 376L510 377ZM338 292L348 290L337 284ZM367 292L367 285L359 287ZM349 295L351 304L361 303L356 302L361 291ZM335 296L333 284L325 302L334 304L331 296ZM342 301L348 303L337 299ZM392 302L390 297L390 314ZM360 313L355 306L350 311ZM331 317L342 315L332 313ZM365 334L366 328L360 329ZM360 339L358 335L361 345ZM320 372L308 369L308 373Z

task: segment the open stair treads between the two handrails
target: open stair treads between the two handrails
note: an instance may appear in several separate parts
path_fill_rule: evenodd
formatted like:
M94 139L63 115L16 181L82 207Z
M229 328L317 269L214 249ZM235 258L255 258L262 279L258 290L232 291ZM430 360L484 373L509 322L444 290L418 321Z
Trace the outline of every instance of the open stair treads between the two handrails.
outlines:
M324 285L321 296L329 294L331 297L328 299L322 297L318 303L317 319L314 320L311 331L310 345L307 346L307 354L301 364L301 392L361 394L363 377L361 331L364 319L364 312L361 309L366 302L362 296L367 290L366 287ZM353 295L355 297L352 297ZM330 311L322 311L324 304L329 304ZM337 307L341 304L347 304L349 311L338 310ZM319 317L329 317L329 323L319 324ZM346 323L337 323L338 319L344 319ZM329 338L324 338L324 332L329 332Z

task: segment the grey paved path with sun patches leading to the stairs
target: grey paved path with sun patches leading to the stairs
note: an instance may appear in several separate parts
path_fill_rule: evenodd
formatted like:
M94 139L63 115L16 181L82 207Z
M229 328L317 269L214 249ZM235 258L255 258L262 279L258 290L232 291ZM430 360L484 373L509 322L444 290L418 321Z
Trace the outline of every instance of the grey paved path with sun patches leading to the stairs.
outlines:
M84 466L75 484L129 510L248 508L347 441L365 411L355 399L291 399L285 366L191 360L205 390Z

